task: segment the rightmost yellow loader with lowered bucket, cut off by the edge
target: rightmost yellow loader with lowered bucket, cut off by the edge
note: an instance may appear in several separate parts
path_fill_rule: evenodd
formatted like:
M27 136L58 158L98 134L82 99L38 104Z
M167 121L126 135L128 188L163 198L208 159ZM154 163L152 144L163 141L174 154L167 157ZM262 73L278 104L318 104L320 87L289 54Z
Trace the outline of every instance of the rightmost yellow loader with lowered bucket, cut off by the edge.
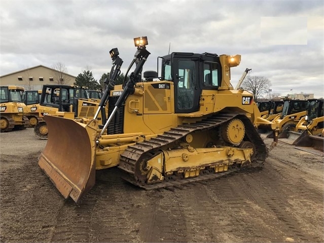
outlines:
M287 126L279 135L280 141L297 149L323 156L324 106L323 99L307 100L306 116L296 126Z

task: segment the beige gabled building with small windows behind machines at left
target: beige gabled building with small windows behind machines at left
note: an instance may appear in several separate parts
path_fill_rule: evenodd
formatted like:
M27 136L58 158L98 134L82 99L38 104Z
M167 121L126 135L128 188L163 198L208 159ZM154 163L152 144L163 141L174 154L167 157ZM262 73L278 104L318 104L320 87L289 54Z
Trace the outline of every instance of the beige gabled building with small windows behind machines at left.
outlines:
M0 84L20 86L25 90L38 90L42 89L44 84L73 85L76 78L53 68L38 65L0 76Z

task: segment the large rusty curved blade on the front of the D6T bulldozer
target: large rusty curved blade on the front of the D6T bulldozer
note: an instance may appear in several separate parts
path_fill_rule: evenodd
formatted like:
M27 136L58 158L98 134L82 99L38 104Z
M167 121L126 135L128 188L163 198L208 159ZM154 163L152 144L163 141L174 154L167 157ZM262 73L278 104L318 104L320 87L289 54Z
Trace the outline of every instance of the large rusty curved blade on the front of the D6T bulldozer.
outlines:
M64 198L78 202L95 184L97 121L86 125L62 117L44 119L49 132L39 166Z

